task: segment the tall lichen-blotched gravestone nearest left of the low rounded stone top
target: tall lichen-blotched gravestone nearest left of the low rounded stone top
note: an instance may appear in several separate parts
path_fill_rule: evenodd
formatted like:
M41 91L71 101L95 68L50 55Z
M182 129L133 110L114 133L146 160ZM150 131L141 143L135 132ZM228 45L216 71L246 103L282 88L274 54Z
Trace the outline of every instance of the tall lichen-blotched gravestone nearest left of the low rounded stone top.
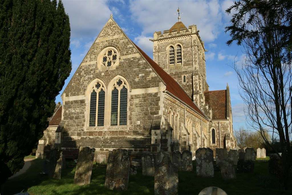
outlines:
M154 194L178 194L178 167L169 154L159 151L154 166Z

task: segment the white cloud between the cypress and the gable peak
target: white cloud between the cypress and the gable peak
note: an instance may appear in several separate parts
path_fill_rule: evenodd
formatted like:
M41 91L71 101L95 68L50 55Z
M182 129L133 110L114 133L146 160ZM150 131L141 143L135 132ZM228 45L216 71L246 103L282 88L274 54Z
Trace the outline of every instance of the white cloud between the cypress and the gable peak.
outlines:
M96 37L112 13L106 1L62 1L68 13L71 37ZM100 11L102 10L102 11ZM108 13L108 14L105 14Z

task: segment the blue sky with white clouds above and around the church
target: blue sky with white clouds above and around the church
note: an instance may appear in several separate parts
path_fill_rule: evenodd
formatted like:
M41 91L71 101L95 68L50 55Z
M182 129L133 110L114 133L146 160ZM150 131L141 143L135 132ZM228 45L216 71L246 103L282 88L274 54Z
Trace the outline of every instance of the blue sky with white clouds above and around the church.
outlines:
M205 42L206 70L209 90L226 89L230 86L233 127L245 127L244 103L239 96L238 80L231 67L234 60L241 64L242 48L227 46L230 38L224 27L230 15L225 13L232 1L90 1L63 0L71 25L72 72L65 81L60 95L77 70L87 51L112 13L114 20L128 37L152 58L153 44L149 41L155 31L168 30L175 22L178 6L181 21L185 26L197 25L201 39Z

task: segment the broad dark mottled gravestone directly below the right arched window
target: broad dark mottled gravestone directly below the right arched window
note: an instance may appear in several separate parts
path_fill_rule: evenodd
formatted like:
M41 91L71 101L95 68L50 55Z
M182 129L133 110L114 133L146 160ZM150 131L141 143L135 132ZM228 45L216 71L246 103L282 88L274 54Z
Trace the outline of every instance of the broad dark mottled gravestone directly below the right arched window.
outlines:
M108 189L128 189L130 175L131 151L116 149L109 151L107 170L105 174L105 187Z

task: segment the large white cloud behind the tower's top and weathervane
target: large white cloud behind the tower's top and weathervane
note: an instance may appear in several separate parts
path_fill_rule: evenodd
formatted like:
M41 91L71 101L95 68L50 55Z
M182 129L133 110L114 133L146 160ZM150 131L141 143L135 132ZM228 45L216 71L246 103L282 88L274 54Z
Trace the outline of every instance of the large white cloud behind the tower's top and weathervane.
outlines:
M178 3L178 2L177 2ZM173 1L131 1L132 20L142 27L142 35L168 30L177 22L177 3ZM181 21L188 27L196 24L205 42L213 41L222 31L222 12L218 1L179 1ZM195 10L195 11L194 11ZM221 29L221 30L218 30ZM149 36L149 35L148 35Z

